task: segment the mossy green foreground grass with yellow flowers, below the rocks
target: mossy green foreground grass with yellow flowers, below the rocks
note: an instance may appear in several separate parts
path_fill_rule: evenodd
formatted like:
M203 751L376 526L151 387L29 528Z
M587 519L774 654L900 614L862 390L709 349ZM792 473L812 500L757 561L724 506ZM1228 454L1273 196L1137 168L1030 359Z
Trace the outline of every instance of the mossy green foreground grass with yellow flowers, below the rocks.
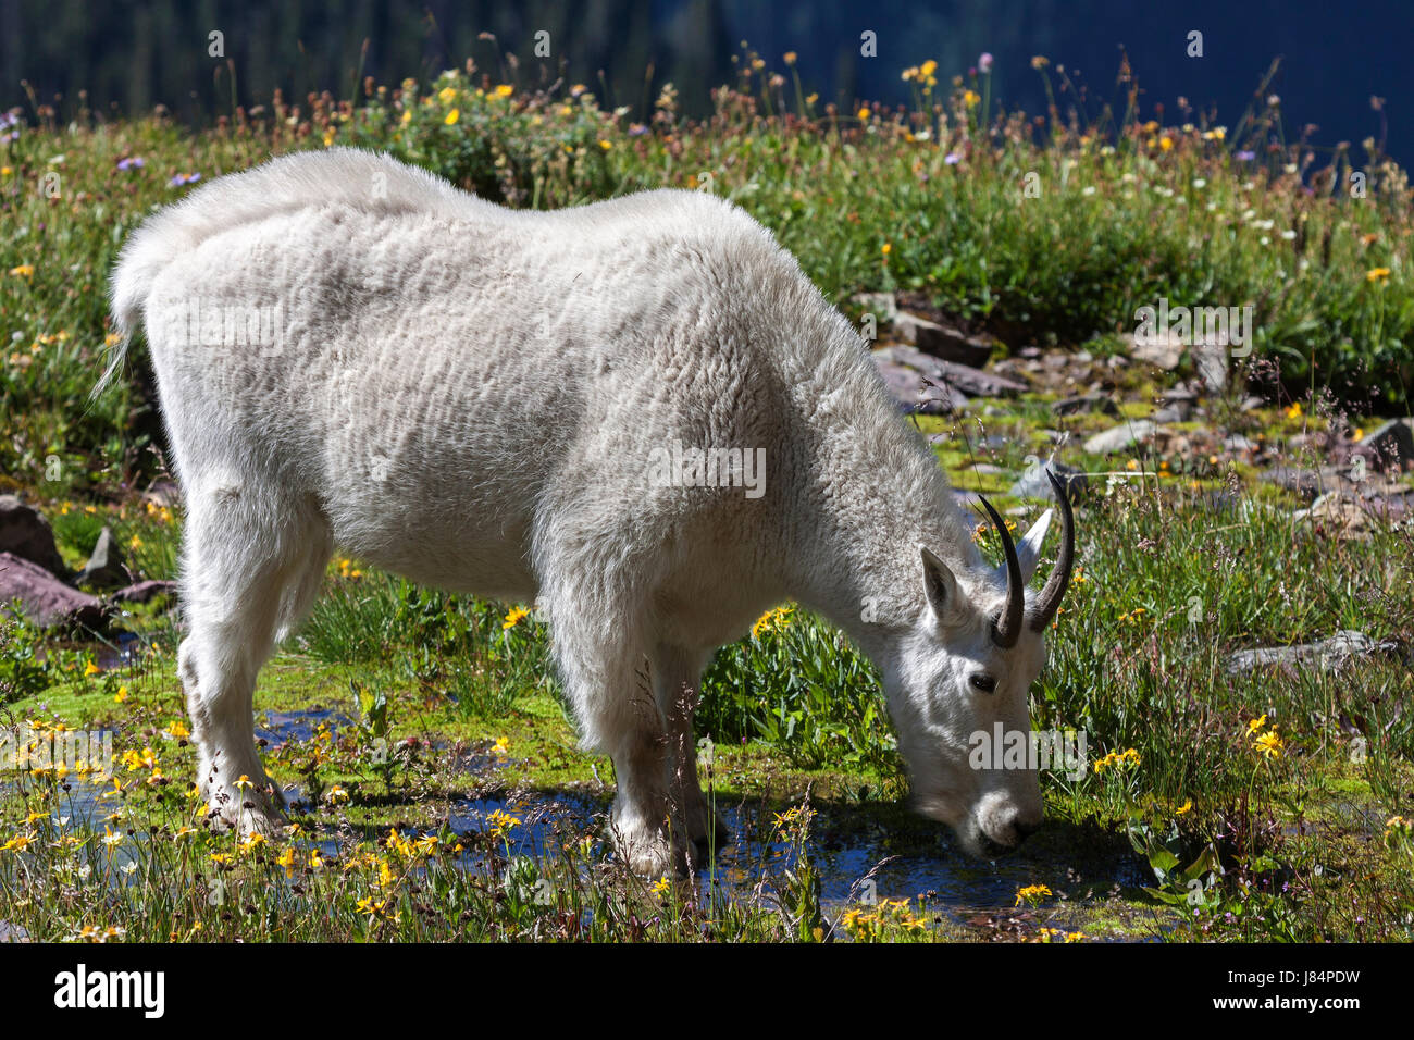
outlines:
M1027 406L1018 413L1025 424ZM959 484L962 467L953 470ZM1093 468L1102 463L1093 460ZM1073 782L1044 775L1052 822L1035 853L1038 863L1065 863L1093 846L1113 860L1124 856L1113 842L1128 839L1154 882L1147 906L1131 896L1062 914L1058 904L1045 920L1090 938L1407 940L1414 845L1400 821L1414 791L1414 727L1394 707L1414 692L1407 664L1374 657L1340 672L1233 678L1225 661L1239 648L1348 627L1408 647L1414 600L1372 590L1411 586L1411 532L1377 526L1369 542L1322 536L1294 522L1290 509L1263 508L1246 492L1244 508L1217 522L1198 494L1188 478L1138 471L1109 488L1099 483L1079 512L1082 569L1034 689L1032 720L1038 729L1083 729L1092 768ZM124 539L137 536L164 562L151 576L168 574L161 566L174 557L180 514L106 511ZM61 531L72 556L69 539L81 529ZM988 535L978 538L986 552L995 549ZM117 727L117 756L136 761L132 753L153 749L157 770L120 764L123 815L92 828L71 822L62 833L55 777L24 778L23 794L4 790L0 833L11 846L23 843L24 855L0 853L0 906L37 937L116 925L127 938L153 940L789 940L834 924L855 940L904 940L918 938L918 921L935 913L912 904L827 913L810 901L809 870L788 877L775 863L765 869L782 886L800 886L789 914L775 900L703 910L683 893L653 893L650 883L602 866L592 828L561 843L580 849L588 840L592 855L568 857L526 857L495 835L447 832L445 807L488 791L574 792L604 808L612 764L577 750L533 616L419 591L352 560L331 565L315 616L262 672L256 695L257 720L304 709L332 709L348 720L337 734L315 730L266 750L271 774L314 801L296 816L305 840L242 848L208 831L185 794L194 760L174 729L184 712L171 618L154 613L136 625L151 649L130 669L86 675L93 654L79 645L30 661L38 678L28 689L7 686L4 710L13 719ZM37 642L33 631L11 630L0 659ZM386 707L373 710L375 692ZM916 832L918 848L928 848L936 838L925 835L936 828L898 801L905 785L885 719L872 668L817 618L781 611L724 648L708 671L699 729L713 734L715 749L704 778L718 804L765 799L779 814L812 799L822 811L814 826L833 843L882 822L898 842ZM1277 754L1258 744L1266 733L1277 734ZM491 778L460 771L448 747L501 768ZM177 838L184 826L195 829ZM389 848L395 828L409 840L437 835L423 845L436 852L399 852L400 840ZM139 891L115 874L123 857L110 857L102 842L112 833L126 835L122 846L156 850L156 860L140 860ZM317 867L307 860L308 838L324 842ZM450 856L444 866L465 857L472 840L482 842L481 859L462 863L461 877L441 876L440 867L426 873L438 856ZM445 852L458 842L461 853ZM800 842L809 846L803 835ZM293 879L288 862L279 862L286 849L301 856ZM229 856L208 880L219 873L239 913L167 887L181 872L215 867L212 855ZM37 874L54 884L35 886ZM1199 879L1198 903L1189 901L1191 874ZM547 883L557 894L550 903L506 903L508 876L529 879L532 889ZM372 903L359 910L362 900ZM287 913L325 903L335 911ZM383 911L370 913L378 903ZM428 907L438 908L438 921ZM816 924L802 932L800 920ZM1035 927L1028 934L1048 938ZM969 932L945 923L926 937Z

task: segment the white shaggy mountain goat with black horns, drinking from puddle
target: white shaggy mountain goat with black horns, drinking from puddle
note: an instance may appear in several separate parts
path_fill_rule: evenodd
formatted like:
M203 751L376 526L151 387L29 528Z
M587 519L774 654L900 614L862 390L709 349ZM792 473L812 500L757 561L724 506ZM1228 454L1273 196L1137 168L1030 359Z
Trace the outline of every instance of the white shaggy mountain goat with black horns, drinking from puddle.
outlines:
M1028 604L1051 512L1017 549L987 505L1007 560L986 566L858 334L734 205L516 212L387 157L296 154L146 221L112 307L146 325L185 494L178 674L228 822L280 818L252 691L339 545L539 597L635 870L680 869L715 826L700 676L786 599L880 666L923 814L987 855L1039 825L1035 770L971 768L969 740L1029 732L1073 557L1065 494L1052 477L1062 546Z

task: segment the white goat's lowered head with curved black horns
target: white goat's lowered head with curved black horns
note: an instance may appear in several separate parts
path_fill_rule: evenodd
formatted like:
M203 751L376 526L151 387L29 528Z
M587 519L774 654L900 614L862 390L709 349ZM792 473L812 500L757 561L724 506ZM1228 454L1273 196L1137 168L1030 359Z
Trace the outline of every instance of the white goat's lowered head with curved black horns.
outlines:
M1017 548L1001 516L983 499L1005 562L995 572L954 574L922 546L919 582L926 608L901 634L888 669L915 805L949 824L973 855L1014 849L1041 825L1028 695L1045 661L1045 630L1060 608L1075 560L1070 504L1056 475L1046 475L1060 509L1060 552L1045 587L1027 596L1053 511ZM998 736L1027 753L1004 754L995 746Z

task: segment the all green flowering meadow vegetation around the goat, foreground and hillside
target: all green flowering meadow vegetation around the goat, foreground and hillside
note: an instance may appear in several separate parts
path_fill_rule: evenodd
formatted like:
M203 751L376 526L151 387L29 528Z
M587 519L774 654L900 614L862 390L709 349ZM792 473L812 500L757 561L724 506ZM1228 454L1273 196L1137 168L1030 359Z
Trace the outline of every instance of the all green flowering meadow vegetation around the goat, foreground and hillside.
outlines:
M1055 98L1039 119L998 112L986 75L945 81L932 62L902 71L912 106L841 112L802 92L792 55L772 71L749 51L700 122L677 113L670 86L648 112L605 110L583 85L471 62L351 99L276 98L202 132L163 112L57 125L35 103L0 134L0 492L35 502L74 566L109 525L134 572L175 576L181 508L140 497L165 475L141 344L133 378L89 400L113 341L105 279L156 205L271 153L334 144L387 150L513 207L713 191L841 306L864 290L918 293L997 337L998 357L1032 344L1121 352L1134 310L1158 297L1253 303L1237 376L1268 402L1230 417L1288 464L1314 461L1312 433L1408 413L1414 204L1376 141L1316 149L1285 133L1280 99L1261 91L1227 127L1184 103L1176 119L1141 112L1127 69L1107 106L1034 65ZM1162 388L1161 374L1121 372L1130 402ZM1049 451L1052 398L912 422L957 487L1019 509L1025 528L1044 504L1008 497L1010 480L976 464L1017 474ZM1080 566L1032 722L1085 730L1090 767L1044 777L1051 822L1007 934L1414 938L1414 526L1374 518L1355 536L1302 519L1304 502L1236 451L1116 461L1068 447L1065 460L1090 474ZM976 536L997 549L981 525ZM134 607L124 627L139 638L109 644L0 625L6 727L41 743L116 734L106 768L0 777L0 928L154 941L978 935L936 894L822 897L820 842L848 843L878 819L905 855L957 853L899 805L874 666L790 604L718 654L699 712L714 797L756 807L745 856L759 884L711 869L632 877L568 815L549 818L534 849L508 808L457 825L468 799L550 792L592 815L612 791L608 760L574 749L532 604L335 560L257 691L257 717L308 723L264 749L297 792L288 833L270 840L212 829L192 798L174 613ZM1389 649L1340 668L1229 671L1234 651L1339 630ZM1130 860L1143 884L1086 901L1068 869L1083 856Z

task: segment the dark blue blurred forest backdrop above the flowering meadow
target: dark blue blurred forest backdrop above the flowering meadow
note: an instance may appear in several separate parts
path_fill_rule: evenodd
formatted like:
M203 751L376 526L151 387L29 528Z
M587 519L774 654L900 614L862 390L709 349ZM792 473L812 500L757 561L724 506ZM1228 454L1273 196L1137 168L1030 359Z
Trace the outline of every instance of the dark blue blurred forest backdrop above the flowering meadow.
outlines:
M925 58L937 59L946 88L990 51L994 96L1039 113L1045 95L1031 57L1042 54L1079 74L1092 116L1106 102L1123 109L1123 47L1144 89L1145 117L1162 102L1168 119L1182 122L1182 95L1229 127L1280 57L1270 91L1281 96L1288 136L1315 123L1315 144L1359 146L1384 137L1387 117L1386 150L1414 158L1414 0L0 0L0 106L30 112L27 79L61 117L88 91L100 115L143 113L161 102L182 120L209 122L232 106L229 72L216 71L225 62L206 55L211 30L225 33L235 96L247 106L269 102L277 86L287 100L324 89L351 98L361 71L396 85L474 57L495 79L522 85L537 83L542 67L553 78L563 59L571 82L635 117L666 81L689 115L703 115L708 91L732 79L742 40L782 72L781 55L796 51L806 92L846 108L860 98L909 102L899 72ZM533 57L537 30L551 34L550 61ZM878 35L877 58L860 57L864 30ZM1186 57L1189 30L1203 33L1205 57ZM499 45L478 41L481 33ZM522 61L518 75L502 64L506 51ZM1387 99L1384 116L1372 110L1372 95Z

